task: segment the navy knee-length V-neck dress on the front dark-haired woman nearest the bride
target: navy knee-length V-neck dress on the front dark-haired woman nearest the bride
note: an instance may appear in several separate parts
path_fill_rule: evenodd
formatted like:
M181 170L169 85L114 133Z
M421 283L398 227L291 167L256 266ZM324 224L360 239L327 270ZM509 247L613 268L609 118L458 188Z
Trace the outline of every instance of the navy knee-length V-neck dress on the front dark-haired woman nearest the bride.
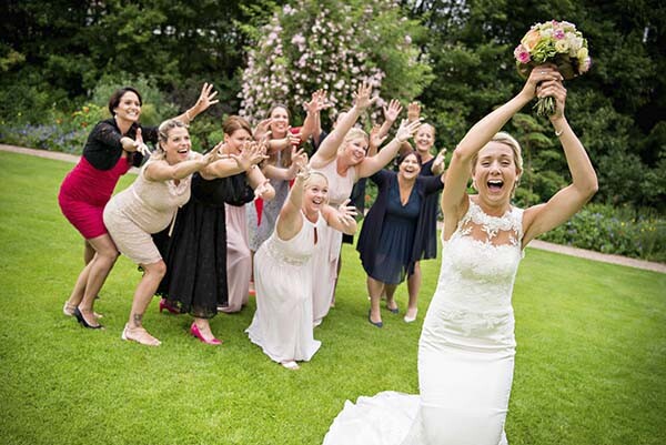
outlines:
M377 199L370 208L356 250L365 273L386 284L400 284L414 273L427 235L424 203L443 189L440 176L418 176L405 205L400 201L397 173L381 170L371 176Z

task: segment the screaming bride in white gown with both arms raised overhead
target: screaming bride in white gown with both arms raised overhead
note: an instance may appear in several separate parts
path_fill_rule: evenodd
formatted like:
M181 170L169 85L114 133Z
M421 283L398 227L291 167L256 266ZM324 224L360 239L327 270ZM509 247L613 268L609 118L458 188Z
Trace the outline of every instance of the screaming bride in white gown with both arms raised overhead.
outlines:
M524 211L511 205L523 172L521 146L502 127L535 95L551 117L572 183ZM564 105L562 75L536 67L523 90L483 118L453 153L442 194L440 280L418 342L420 396L384 392L346 402L324 445L506 444L504 421L515 356L513 284L525 246L574 215L597 180ZM467 194L467 182L476 194Z

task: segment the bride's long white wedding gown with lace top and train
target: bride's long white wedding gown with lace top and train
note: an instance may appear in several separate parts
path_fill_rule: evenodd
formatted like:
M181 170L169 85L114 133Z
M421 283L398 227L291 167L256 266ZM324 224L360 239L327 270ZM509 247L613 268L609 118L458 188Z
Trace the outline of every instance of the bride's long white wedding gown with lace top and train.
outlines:
M444 241L437 290L418 342L421 395L345 402L324 445L498 445L515 356L513 284L523 211L470 209Z

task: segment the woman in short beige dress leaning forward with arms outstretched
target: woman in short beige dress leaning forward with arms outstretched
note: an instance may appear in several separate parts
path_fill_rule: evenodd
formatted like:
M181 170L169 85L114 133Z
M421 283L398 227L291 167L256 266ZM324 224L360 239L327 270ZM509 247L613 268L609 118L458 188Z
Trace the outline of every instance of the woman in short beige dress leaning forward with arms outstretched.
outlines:
M190 200L192 173L214 161L216 154L192 152L190 133L181 121L162 122L158 134L158 150L137 180L104 209L104 224L118 250L143 269L122 338L150 346L160 341L143 328L143 314L167 272L151 234L173 224L178 208Z

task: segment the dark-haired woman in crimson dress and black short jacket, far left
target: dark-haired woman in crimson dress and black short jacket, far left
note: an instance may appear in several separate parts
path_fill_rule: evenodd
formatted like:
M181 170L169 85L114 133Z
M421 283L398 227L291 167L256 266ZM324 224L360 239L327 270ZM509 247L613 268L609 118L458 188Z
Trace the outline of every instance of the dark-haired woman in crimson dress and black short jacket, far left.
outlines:
M199 113L216 103L216 92L204 83L199 100L176 119L190 122ZM143 140L157 142L157 128L142 127L141 94L125 87L115 91L109 100L111 119L99 122L83 149L81 160L67 175L58 202L69 222L85 240L85 257L92 256L79 274L74 289L64 302L64 315L74 315L82 326L100 328L93 312L94 297L104 284L118 257L118 250L111 241L102 221L104 205L111 199L113 189L121 175L132 165L140 165L148 149ZM138 152L139 151L139 152ZM91 255L91 252L94 252Z

